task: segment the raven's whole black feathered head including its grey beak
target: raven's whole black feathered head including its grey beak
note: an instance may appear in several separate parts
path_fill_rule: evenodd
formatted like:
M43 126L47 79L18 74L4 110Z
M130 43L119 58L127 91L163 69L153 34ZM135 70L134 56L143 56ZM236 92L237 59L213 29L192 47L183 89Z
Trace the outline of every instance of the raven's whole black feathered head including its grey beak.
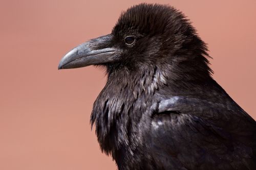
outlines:
M89 65L136 71L162 67L176 78L209 77L207 47L186 17L168 5L139 4L123 12L111 34L68 52L58 69Z

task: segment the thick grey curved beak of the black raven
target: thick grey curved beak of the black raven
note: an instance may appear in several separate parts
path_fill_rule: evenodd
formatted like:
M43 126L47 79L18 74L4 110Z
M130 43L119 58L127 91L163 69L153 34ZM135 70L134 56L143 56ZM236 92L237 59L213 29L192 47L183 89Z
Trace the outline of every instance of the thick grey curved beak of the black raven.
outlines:
M79 68L116 61L117 52L111 46L112 39L113 35L109 34L78 45L60 60L58 69Z

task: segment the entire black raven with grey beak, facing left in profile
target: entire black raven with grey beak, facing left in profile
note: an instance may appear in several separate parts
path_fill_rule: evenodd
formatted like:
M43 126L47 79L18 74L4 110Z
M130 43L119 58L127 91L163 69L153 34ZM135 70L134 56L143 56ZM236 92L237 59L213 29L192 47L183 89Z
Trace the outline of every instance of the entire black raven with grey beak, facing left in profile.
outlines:
M255 120L212 79L208 58L180 11L139 4L58 68L106 68L91 124L118 169L256 169Z

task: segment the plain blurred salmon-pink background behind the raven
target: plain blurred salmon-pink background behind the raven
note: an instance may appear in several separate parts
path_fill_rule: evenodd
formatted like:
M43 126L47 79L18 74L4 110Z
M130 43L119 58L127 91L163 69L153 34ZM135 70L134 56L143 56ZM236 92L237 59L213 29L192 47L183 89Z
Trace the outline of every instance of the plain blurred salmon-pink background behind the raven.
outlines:
M1 0L0 169L116 169L89 125L103 70L57 66L140 2ZM215 80L255 119L256 1L147 2L188 16L208 43Z

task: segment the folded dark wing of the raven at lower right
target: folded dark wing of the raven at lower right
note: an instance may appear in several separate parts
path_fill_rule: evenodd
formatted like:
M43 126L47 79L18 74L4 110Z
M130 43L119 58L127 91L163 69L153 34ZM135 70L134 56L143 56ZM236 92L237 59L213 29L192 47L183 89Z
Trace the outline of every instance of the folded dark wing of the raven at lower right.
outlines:
M239 108L175 96L158 103L149 140L165 169L256 169L255 127Z

